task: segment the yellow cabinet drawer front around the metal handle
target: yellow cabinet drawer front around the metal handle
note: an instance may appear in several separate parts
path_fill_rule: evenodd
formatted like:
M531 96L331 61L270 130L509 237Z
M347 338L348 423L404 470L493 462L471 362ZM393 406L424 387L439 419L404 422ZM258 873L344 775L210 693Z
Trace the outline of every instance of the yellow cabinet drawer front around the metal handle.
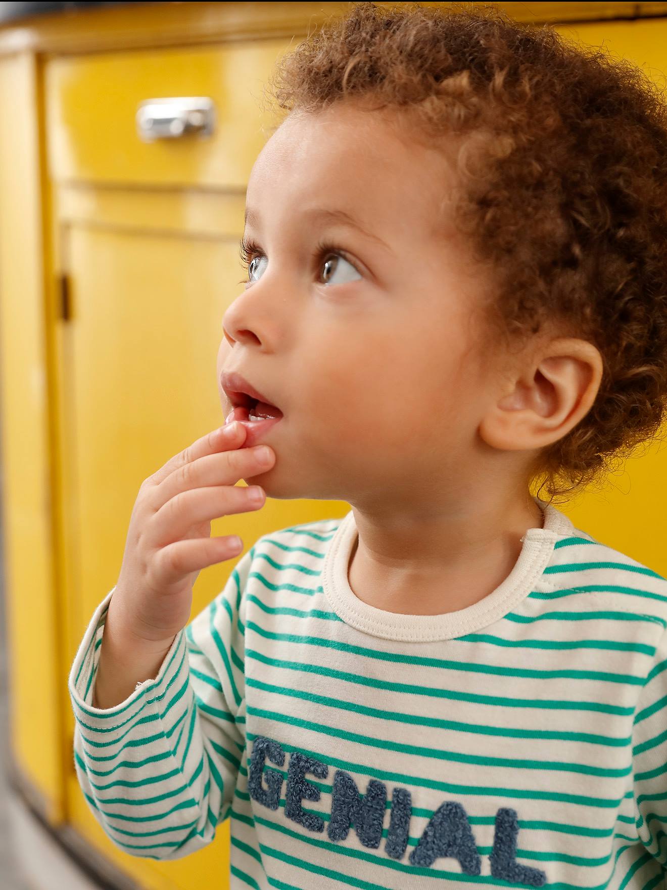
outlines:
M269 127L264 85L289 41L55 57L45 64L46 132L52 178L108 184L245 189ZM143 142L141 102L208 96L210 136Z

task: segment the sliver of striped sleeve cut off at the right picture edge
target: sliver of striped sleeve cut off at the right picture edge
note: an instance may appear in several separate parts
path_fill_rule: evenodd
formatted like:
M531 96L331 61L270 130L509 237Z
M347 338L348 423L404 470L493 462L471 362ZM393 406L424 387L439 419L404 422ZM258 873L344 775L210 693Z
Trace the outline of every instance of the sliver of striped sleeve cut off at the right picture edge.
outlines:
M655 649L639 694L632 730L632 766L639 838L648 853L667 863L667 631Z

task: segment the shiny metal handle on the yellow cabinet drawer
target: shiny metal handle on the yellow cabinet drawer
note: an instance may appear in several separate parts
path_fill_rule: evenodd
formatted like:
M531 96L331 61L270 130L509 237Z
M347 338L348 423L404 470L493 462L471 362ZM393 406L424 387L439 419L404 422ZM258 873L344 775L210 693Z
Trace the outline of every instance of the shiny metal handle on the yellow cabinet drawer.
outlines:
M213 134L215 105L207 96L147 99L136 114L137 133L143 142L179 139L189 133Z

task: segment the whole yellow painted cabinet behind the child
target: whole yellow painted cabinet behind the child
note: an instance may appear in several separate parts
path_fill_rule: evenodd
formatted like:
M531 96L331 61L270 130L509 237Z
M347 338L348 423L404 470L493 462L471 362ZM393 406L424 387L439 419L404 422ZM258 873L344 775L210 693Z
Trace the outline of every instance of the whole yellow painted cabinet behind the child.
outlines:
M143 34L146 41L155 7L165 5L171 4L100 11L95 20L107 21L108 28L97 35L86 36L79 17L73 39L78 49L86 40L122 46L126 36L131 46ZM261 30L261 14L269 39L56 54L44 61L44 116L37 102L42 69L29 53L0 58L0 111L12 122L0 128L0 420L12 751L44 795L52 821L66 815L150 890L229 886L229 822L213 845L185 860L152 862L118 851L76 782L68 668L92 611L116 581L141 481L221 423L215 359L222 316L242 278L237 239L245 183L271 124L261 112L262 90L294 33L277 36L292 26L281 26L276 9L293 21L301 7L305 32L315 6L328 12L343 5L173 4L173 17L155 28L157 42L177 43L181 36L211 41L223 20L236 36L247 36ZM593 4L522 8L527 5L546 16L565 5L585 7L590 15ZM648 5L596 8L602 15L614 6ZM133 16L143 32L128 28ZM180 20L189 22L182 34L173 27ZM52 52L67 46L62 23L50 27L25 29L24 38L28 44L44 39ZM559 30L586 44L604 42L663 83L667 19ZM0 29L0 53L9 44ZM212 96L219 116L213 138L141 142L134 123L138 103L166 95ZM41 193L40 161L46 174ZM71 282L68 322L54 318L60 272ZM561 509L595 537L667 574L659 498L665 483L667 457L654 446L631 460L607 493L587 492ZM213 522L212 533L233 530L247 550L266 532L348 509L338 501L269 498L259 514ZM193 616L221 590L236 562L201 572Z

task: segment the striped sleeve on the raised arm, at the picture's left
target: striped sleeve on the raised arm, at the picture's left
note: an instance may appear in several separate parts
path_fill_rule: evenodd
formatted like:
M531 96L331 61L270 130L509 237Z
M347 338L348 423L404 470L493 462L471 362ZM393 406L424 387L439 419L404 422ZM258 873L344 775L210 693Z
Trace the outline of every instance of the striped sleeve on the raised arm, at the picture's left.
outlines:
M243 591L253 550L173 641L155 679L114 708L92 690L113 588L94 612L69 675L76 776L125 853L178 859L215 837L245 747Z

